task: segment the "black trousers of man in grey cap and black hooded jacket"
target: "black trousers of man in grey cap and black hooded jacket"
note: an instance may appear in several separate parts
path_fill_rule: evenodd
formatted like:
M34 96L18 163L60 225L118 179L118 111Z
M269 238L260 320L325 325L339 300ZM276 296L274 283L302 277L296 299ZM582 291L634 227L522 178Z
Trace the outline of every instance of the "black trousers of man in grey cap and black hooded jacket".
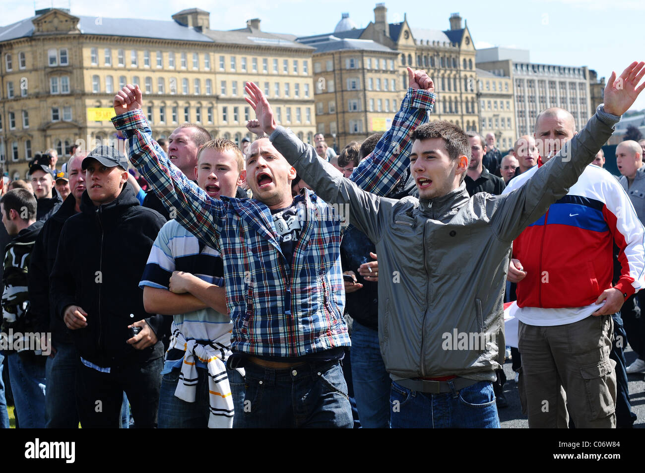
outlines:
M83 428L119 428L123 392L128 396L135 428L157 427L163 357L113 367L110 373L88 368L79 361L76 405Z

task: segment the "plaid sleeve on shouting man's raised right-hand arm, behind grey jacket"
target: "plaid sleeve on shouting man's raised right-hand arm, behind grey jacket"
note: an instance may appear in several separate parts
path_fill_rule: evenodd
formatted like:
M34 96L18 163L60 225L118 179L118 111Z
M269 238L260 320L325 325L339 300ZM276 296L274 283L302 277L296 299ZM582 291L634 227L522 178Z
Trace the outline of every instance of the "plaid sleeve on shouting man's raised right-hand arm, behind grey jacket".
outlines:
M350 179L357 186L377 196L392 192L410 164L410 132L428 121L428 112L435 105L436 97L427 90L408 88L390 130L385 132L372 154L362 159L352 173Z

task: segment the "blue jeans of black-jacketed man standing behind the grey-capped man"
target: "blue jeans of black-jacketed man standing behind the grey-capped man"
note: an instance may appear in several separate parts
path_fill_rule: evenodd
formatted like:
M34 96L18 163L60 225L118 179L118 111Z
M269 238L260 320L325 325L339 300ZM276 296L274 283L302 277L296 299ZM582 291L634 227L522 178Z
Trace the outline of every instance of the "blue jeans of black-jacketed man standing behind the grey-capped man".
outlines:
M47 358L45 423L47 428L78 428L74 389L79 355L72 343L54 343L56 353Z

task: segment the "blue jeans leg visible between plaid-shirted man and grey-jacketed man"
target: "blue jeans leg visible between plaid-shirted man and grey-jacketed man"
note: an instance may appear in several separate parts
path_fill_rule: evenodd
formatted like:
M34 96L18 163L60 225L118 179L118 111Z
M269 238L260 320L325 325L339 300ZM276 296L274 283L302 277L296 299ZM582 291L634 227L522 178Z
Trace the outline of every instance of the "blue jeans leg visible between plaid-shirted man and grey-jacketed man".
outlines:
M354 321L352 380L361 426L390 427L390 375L385 370L379 332Z

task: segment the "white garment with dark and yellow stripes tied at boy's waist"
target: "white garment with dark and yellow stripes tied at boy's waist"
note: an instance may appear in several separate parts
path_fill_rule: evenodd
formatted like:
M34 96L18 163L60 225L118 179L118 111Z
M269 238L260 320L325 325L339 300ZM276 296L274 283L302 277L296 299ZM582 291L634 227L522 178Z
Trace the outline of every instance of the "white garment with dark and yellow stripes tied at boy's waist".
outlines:
M209 345L200 345L195 340L184 338L183 334L173 327L172 348L184 350L184 360L181 364L179 383L175 396L188 403L195 402L197 394L197 360L203 361L208 367L208 392L210 416L208 428L233 427L233 396L226 376L226 360L231 354L231 334L227 332L211 341ZM172 343L171 343L172 345ZM196 359L195 359L196 358ZM243 370L239 370L244 376Z

